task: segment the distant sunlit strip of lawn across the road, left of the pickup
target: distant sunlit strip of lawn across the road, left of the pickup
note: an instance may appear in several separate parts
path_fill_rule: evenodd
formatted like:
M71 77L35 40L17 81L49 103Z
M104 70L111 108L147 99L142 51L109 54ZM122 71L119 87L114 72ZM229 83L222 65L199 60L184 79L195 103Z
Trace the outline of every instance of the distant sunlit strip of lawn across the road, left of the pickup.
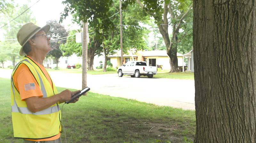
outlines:
M48 72L67 72L67 73L78 73L82 74L82 69L47 69ZM94 71L87 71L87 74L110 74L110 73L116 73L114 71L107 71L107 72L102 72L103 69L95 69Z

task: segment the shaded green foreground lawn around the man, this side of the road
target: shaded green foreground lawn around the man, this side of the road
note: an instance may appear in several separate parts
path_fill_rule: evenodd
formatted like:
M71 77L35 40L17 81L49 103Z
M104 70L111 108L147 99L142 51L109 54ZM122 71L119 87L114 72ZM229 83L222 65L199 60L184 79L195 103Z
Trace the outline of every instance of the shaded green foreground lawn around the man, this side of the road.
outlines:
M10 80L0 78L0 84L0 142L22 143L13 138ZM195 111L91 92L63 106L62 122L69 143L192 143L196 127ZM61 138L65 142L64 131Z

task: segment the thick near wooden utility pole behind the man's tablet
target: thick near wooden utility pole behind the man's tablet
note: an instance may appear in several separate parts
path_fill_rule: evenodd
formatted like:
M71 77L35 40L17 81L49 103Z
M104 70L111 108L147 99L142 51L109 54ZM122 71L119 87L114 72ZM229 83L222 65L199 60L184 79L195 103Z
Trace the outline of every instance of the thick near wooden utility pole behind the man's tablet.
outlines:
M88 23L83 23L83 33L82 33L82 56L83 56L83 66L82 66L82 89L87 87L87 51L88 51ZM86 94L84 94L86 95Z

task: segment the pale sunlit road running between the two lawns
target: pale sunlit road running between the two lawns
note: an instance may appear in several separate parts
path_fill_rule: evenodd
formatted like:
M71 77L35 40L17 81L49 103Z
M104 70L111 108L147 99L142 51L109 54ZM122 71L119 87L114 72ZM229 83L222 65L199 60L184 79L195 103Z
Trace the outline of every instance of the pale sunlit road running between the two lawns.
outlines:
M0 69L1 78L10 78L12 70ZM82 74L49 72L57 87L81 89ZM118 77L116 74L87 75L91 92L134 99L160 106L195 110L194 80Z

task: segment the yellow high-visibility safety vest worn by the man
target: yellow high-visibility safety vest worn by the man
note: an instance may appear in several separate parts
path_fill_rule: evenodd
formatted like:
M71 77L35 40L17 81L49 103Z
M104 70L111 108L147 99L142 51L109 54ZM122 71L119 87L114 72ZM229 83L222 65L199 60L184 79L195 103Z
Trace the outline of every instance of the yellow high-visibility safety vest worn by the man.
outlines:
M53 82L51 86L39 66L26 56L14 67L12 76L21 63L25 64L35 77L43 93L43 98L58 93ZM14 138L46 139L59 134L59 132L61 132L61 112L58 104L59 102L36 113L29 111L26 102L21 101L20 93L17 91L13 79L11 78L12 126Z

